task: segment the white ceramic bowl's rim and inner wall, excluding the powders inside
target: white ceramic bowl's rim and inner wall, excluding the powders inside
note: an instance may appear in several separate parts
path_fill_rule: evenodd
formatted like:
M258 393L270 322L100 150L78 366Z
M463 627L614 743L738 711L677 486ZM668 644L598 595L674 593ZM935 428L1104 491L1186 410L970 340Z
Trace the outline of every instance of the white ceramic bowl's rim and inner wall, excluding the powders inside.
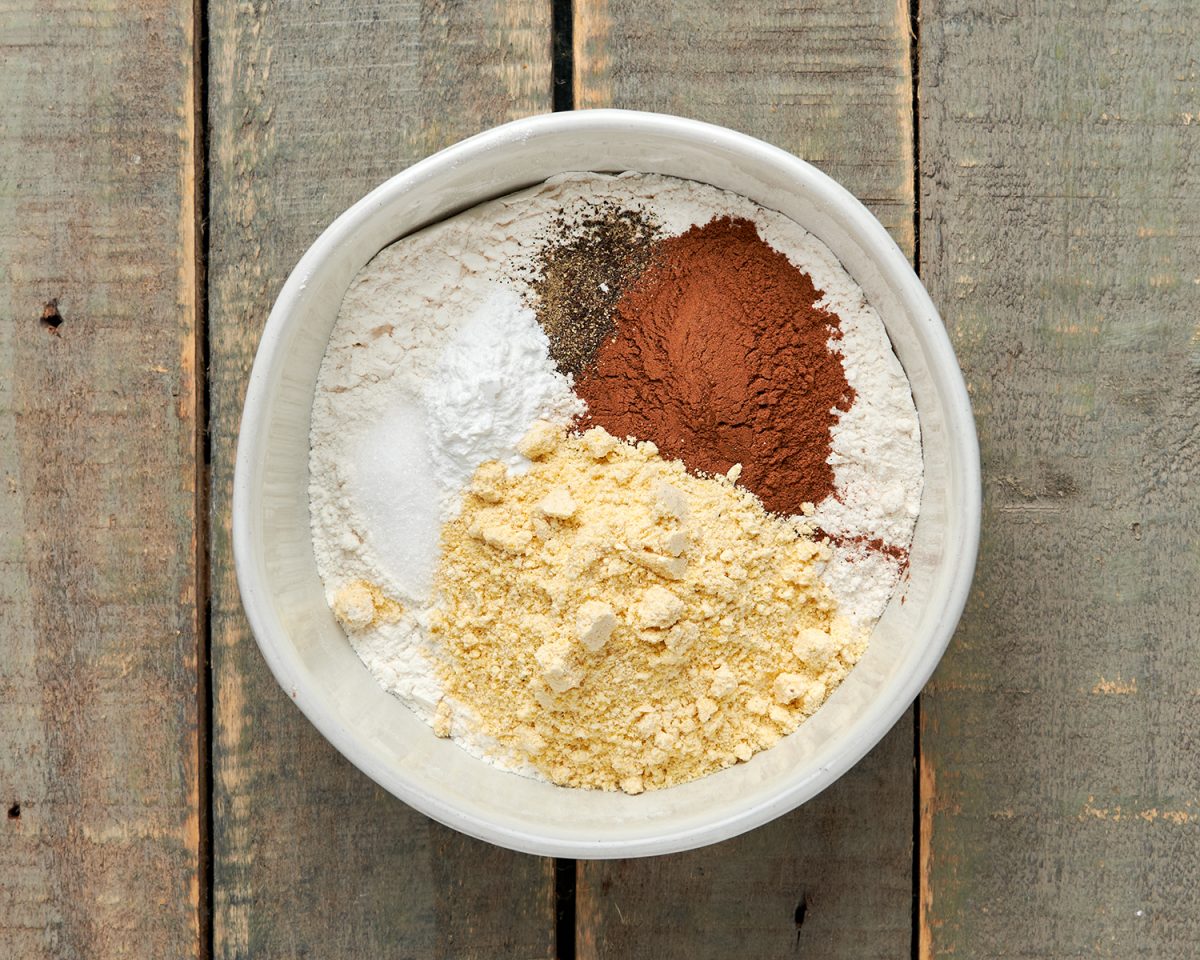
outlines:
M563 170L642 170L713 184L821 238L887 325L920 415L925 491L906 602L800 728L749 763L637 797L503 773L433 736L376 683L324 599L308 530L308 421L350 280L397 238ZM624 110L535 116L394 176L326 229L271 311L250 377L234 478L238 583L283 689L359 769L424 814L514 850L598 858L670 853L757 827L829 786L900 718L966 601L979 536L974 421L946 330L907 259L828 176L721 127ZM906 774L905 774L906 775Z

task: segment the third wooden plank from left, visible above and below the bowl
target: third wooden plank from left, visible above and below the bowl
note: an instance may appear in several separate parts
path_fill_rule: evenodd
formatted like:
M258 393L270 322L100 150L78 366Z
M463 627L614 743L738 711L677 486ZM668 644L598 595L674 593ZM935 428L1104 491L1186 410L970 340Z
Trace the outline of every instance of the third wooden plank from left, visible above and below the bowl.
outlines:
M844 182L912 250L904 4L575 10L577 106L678 113L776 143ZM678 857L581 863L580 956L906 955L912 790L908 714L853 773L769 827Z

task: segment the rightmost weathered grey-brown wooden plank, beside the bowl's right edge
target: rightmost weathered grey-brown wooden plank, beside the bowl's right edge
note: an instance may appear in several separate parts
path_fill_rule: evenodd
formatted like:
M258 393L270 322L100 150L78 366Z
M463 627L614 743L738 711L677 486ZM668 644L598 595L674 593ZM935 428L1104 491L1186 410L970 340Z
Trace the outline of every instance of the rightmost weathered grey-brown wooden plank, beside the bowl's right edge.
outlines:
M922 4L922 259L985 476L923 698L923 956L1200 943L1194 28Z

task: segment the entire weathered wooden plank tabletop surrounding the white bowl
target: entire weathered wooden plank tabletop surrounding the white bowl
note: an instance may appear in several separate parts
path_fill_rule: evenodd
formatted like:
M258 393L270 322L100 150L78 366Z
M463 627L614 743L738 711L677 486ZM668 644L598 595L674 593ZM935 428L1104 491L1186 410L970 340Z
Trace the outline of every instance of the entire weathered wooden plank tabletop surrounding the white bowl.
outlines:
M1200 954L1200 31L1111 0L0 0L0 956ZM330 220L630 107L779 144L912 253L983 542L918 704L691 853L467 839L241 613L246 376Z

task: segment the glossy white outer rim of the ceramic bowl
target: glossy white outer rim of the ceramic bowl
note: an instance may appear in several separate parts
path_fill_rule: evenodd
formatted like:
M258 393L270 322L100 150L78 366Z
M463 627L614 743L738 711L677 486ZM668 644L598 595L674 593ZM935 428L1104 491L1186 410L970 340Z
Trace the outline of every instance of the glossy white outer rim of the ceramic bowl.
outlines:
M953 571L946 593L943 614L936 631L911 662L906 680L896 695L887 701L886 709L864 714L853 734L833 762L816 773L788 784L758 803L739 809L728 816L672 829L666 827L653 838L582 840L538 834L530 829L515 829L481 820L464 812L420 786L408 781L402 769L386 766L362 748L355 734L325 707L323 695L308 686L307 674L300 666L299 653L287 631L270 611L270 598L257 576L251 508L254 485L259 479L256 457L265 449L271 371L280 362L284 334L295 317L294 307L302 296L308 278L340 244L370 222L377 211L398 194L419 185L421 180L446 166L455 167L475 160L499 146L536 136L578 133L596 134L612 131L644 131L654 134L678 136L692 142L702 140L734 152L754 152L779 167L802 190L820 196L836 209L852 229L864 251L875 260L899 300L917 316L929 319L924 335L937 356L938 372L947 394L946 433L950 450L948 462L958 464L964 509L961 529L953 544L962 563ZM300 708L317 730L355 767L418 811L462 833L511 850L540 856L571 858L638 857L672 853L718 842L767 823L784 812L808 802L823 791L851 767L857 764L920 692L942 658L958 626L966 605L978 554L982 509L979 448L974 419L961 370L950 344L949 335L908 258L876 217L845 187L812 164L781 148L745 133L700 120L670 114L640 110L596 109L572 110L514 120L478 133L448 146L391 176L362 199L353 204L326 227L300 258L283 283L271 307L254 355L242 407L238 451L234 464L232 498L232 541L239 592L251 632L266 660L276 682Z

